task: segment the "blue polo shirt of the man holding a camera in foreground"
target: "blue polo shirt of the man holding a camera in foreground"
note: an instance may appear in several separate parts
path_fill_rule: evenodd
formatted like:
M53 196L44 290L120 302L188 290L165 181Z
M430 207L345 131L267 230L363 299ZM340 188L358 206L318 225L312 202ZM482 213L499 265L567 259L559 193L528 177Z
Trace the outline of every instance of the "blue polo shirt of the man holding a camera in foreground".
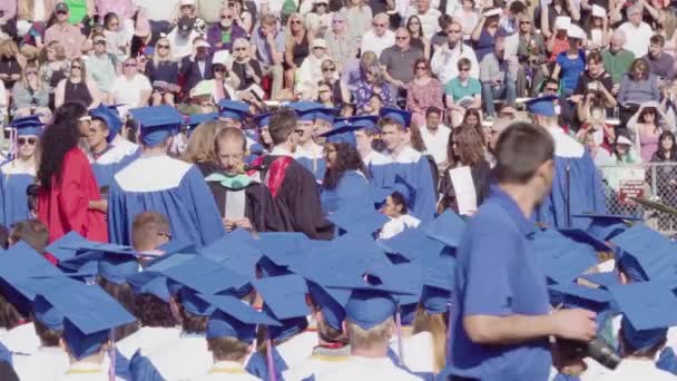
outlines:
M533 221L524 218L511 196L492 186L457 250L448 361L453 374L482 381L548 380L548 338L518 345L480 345L470 341L462 321L467 315L549 313L533 233Z

